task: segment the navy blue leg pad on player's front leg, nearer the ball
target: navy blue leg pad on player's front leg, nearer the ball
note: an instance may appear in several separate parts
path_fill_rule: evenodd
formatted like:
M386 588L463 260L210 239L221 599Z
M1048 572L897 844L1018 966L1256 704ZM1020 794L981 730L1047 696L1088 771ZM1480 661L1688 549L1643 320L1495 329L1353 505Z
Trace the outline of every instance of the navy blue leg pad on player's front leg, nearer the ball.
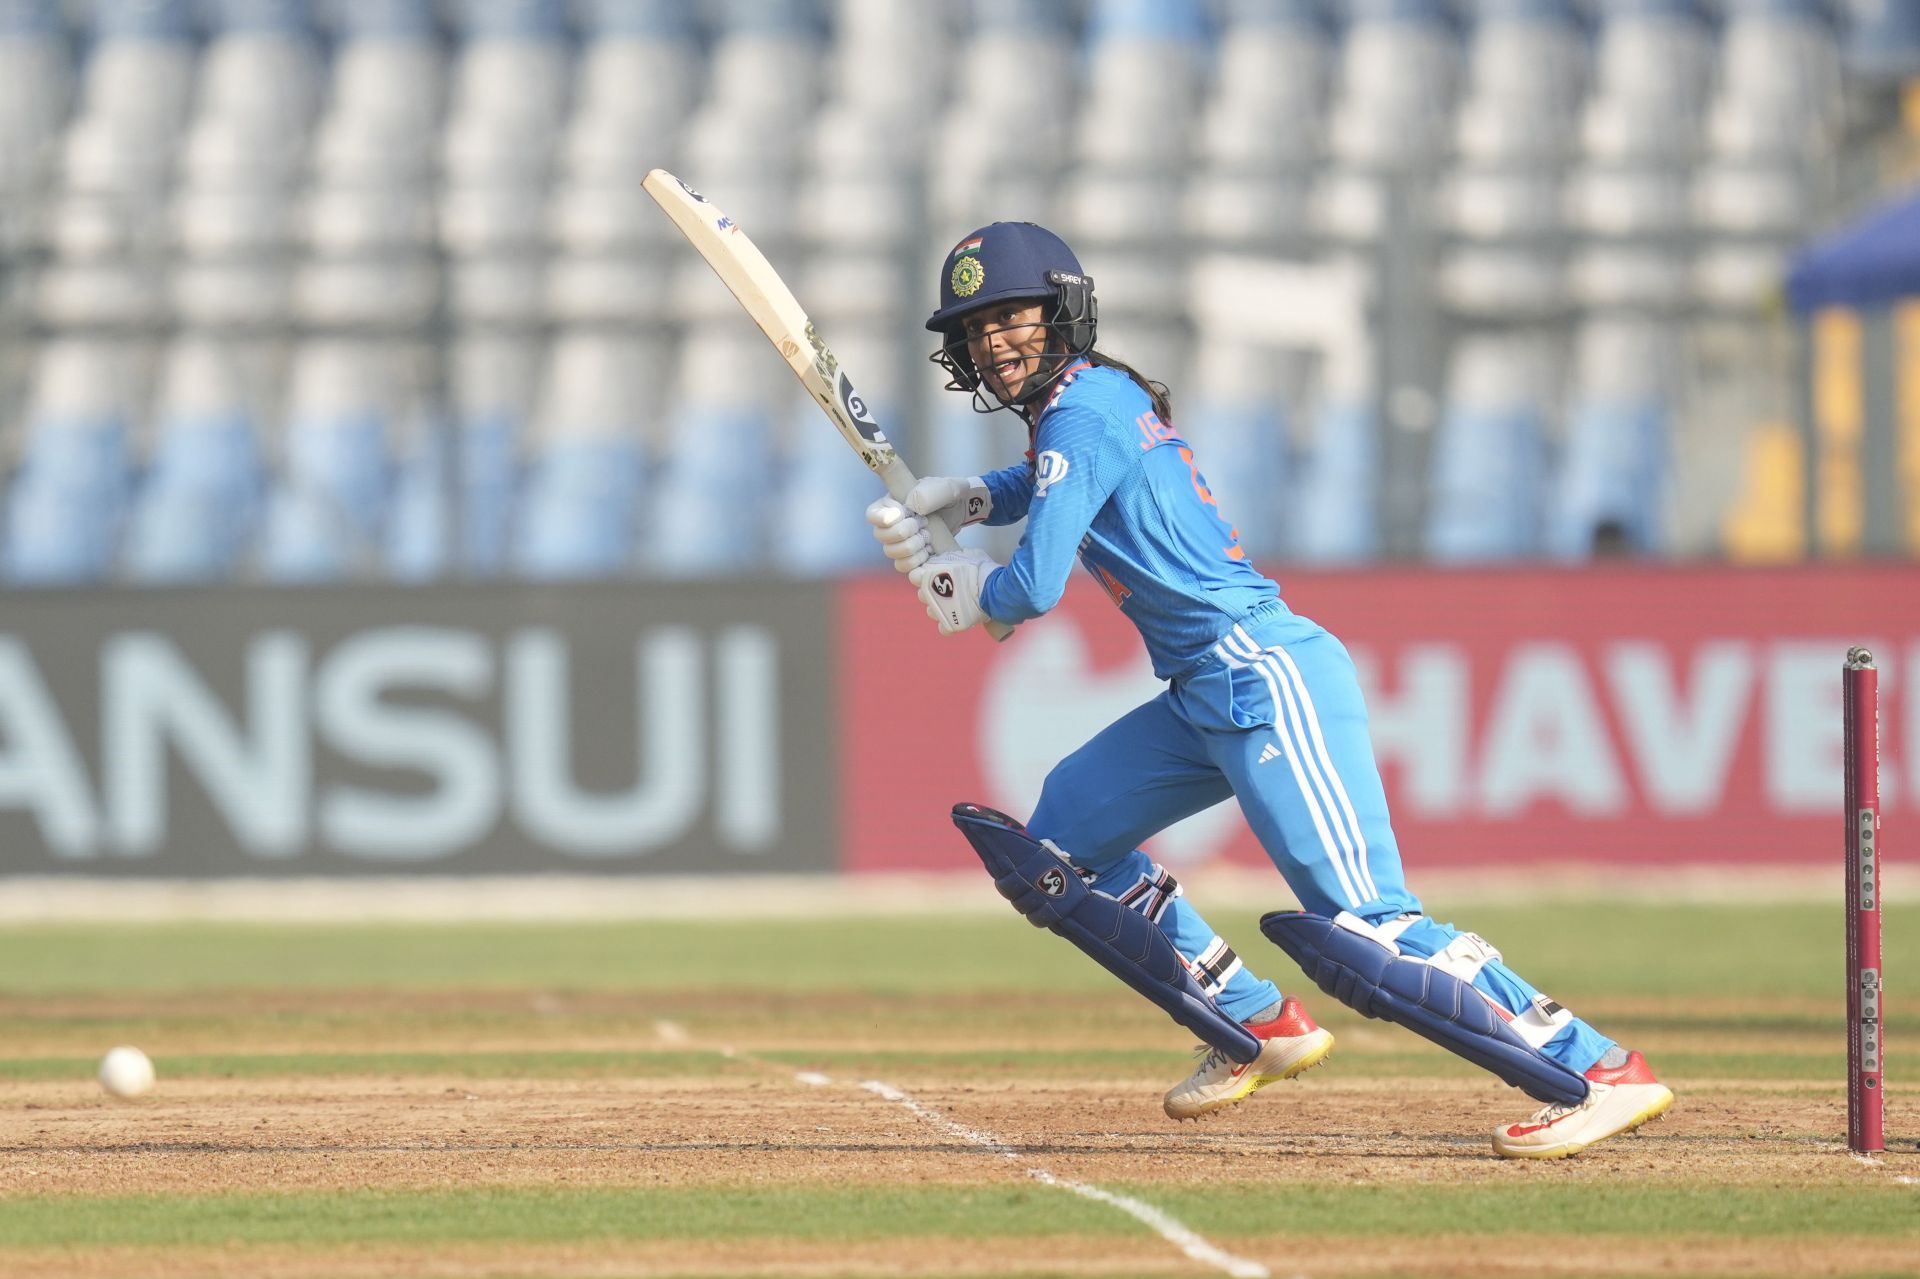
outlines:
M1219 1010L1187 970L1160 926L1081 881L1064 857L993 808L954 805L954 826L968 837L993 887L1035 928L1048 928L1092 956L1100 968L1154 1001L1169 1018L1235 1062L1260 1056L1260 1041Z

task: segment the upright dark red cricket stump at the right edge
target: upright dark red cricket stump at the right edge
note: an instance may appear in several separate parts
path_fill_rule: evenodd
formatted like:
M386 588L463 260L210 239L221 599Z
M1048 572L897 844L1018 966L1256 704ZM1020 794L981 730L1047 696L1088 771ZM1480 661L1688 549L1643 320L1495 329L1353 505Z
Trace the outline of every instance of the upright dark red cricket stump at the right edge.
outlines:
M1880 672L1847 651L1847 1148L1885 1150L1880 977Z

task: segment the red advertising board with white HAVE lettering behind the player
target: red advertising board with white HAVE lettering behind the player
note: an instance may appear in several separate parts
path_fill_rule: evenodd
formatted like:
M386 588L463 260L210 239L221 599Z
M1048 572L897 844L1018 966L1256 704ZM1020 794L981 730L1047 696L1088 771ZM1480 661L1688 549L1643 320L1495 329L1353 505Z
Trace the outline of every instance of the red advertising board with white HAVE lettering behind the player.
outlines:
M1880 664L1882 803L1920 810L1920 568L1605 567L1283 574L1354 653L1411 866L1837 858L1839 668ZM851 870L972 862L956 801L1025 816L1046 770L1160 691L1091 582L1002 645L941 638L899 578L841 601ZM1895 826L1897 830L1897 826ZM1231 803L1169 864L1261 864Z

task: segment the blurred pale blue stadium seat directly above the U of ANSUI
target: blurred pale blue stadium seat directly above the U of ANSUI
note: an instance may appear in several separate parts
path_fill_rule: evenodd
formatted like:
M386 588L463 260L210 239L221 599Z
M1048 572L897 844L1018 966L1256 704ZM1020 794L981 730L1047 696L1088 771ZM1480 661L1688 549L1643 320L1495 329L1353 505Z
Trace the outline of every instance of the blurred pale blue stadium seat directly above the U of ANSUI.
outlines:
M513 563L530 578L618 576L634 567L641 457L630 440L561 440L532 463Z

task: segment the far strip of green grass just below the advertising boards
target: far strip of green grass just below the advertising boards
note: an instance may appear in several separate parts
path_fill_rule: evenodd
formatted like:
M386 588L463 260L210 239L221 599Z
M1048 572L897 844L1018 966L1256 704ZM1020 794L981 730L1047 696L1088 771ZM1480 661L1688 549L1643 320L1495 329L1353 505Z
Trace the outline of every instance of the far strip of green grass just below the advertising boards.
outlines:
M985 891L985 887L983 887ZM1279 893L1275 893L1279 897ZM1244 912L1215 912L1256 968L1288 974ZM1442 910L1563 1001L1830 997L1837 905ZM1887 972L1920 972L1920 910L1887 908ZM0 933L0 995L180 991L1108 991L1112 977L1012 914L499 926L29 926Z

